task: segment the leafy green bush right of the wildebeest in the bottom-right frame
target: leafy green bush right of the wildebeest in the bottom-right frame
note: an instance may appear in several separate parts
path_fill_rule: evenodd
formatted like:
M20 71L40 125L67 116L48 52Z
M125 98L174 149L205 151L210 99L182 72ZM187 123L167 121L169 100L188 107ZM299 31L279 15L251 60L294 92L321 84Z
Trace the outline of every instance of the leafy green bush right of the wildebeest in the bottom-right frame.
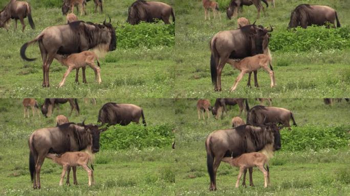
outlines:
M294 127L281 133L282 151L339 149L350 144L348 127Z

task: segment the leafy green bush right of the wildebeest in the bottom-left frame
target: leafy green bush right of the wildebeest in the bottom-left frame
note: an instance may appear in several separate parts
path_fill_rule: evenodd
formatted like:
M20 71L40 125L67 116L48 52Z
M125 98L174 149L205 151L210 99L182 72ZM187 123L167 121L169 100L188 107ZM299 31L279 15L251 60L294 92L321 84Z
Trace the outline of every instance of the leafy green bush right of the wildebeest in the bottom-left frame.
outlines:
M170 146L174 135L169 125L147 126L130 124L115 125L101 134L100 145L103 150L143 149L154 146Z

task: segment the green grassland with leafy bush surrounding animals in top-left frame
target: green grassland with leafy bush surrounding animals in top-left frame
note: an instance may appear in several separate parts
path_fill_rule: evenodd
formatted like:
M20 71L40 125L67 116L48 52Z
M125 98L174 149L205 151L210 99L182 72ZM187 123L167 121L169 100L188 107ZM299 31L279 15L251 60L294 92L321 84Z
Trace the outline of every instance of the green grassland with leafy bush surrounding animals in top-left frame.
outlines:
M1 8L8 0L1 0ZM128 7L134 0L105 1L103 13L94 13L94 3L86 6L87 15L80 20L102 23L108 16L113 27L117 27L117 50L100 58L102 83L94 80L94 71L86 69L87 84L74 83L75 71L72 71L62 88L57 88L67 67L56 60L50 66L50 88L42 88L42 60L37 44L27 48L26 55L38 58L25 62L19 56L19 48L34 39L43 29L66 23L61 12L62 1L27 1L32 6L32 17L36 26L32 30L25 19L26 30L14 31L11 20L9 31L0 29L0 94L1 97L169 97L173 86L172 60L174 45L174 24L165 26L163 21L156 24L143 23L130 26L126 23ZM174 5L173 0L163 1ZM170 19L170 21L172 21ZM81 76L81 71L80 71Z

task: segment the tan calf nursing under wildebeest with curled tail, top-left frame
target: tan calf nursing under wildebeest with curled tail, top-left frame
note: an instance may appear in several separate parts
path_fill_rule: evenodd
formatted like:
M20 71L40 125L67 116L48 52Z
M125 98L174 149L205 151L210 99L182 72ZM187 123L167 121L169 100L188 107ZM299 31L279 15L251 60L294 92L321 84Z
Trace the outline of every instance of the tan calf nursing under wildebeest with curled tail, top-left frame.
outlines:
M82 67L83 72L83 83L86 83L85 78L85 67L86 65L89 65L92 69L95 71L95 80L99 84L101 83L101 76L100 76L100 62L98 61L98 57L95 53L91 51L83 51L81 53L75 53L71 54L69 56L63 56L63 55L55 55L55 59L59 61L62 65L67 66L68 69L65 71L63 75L62 81L59 83L58 87L63 86L65 79L68 77L69 73L72 71L72 69L76 69L76 75L75 75L75 82L78 82L78 72L79 68ZM97 61L97 65L95 64L95 60Z

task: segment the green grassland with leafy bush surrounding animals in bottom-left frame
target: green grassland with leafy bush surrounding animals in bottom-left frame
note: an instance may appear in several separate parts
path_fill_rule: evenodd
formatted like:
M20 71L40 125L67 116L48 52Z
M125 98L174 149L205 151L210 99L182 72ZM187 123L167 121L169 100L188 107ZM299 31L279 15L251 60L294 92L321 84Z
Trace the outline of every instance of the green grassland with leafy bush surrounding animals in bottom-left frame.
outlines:
M38 100L42 104L43 100ZM69 104L54 110L52 117L41 115L23 118L21 100L1 99L0 111L0 194L1 195L174 195L173 100L78 100L80 116L73 112L72 122L96 124L98 111L107 102L132 103L143 108L147 127L142 124L108 128L100 137L100 152L95 154L96 185L88 187L88 176L77 169L78 186L58 186L61 166L46 159L41 168L41 189L34 190L30 181L28 138L36 129L56 125L58 114L68 115ZM161 114L161 115L160 115ZM31 115L31 111L30 111ZM151 137L151 138L150 138ZM118 139L122 139L120 141ZM124 145L108 146L113 142ZM141 145L142 144L142 145ZM118 150L116 149L118 147Z

